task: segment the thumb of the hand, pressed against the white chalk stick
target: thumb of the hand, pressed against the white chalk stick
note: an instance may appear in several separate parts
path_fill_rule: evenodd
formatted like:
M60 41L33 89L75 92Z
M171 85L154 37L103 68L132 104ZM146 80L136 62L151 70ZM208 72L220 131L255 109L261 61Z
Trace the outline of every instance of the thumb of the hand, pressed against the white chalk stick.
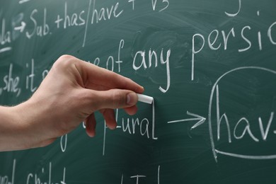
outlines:
M97 110L103 108L128 108L136 105L138 96L133 91L123 89L110 89L108 91L93 91L92 103Z

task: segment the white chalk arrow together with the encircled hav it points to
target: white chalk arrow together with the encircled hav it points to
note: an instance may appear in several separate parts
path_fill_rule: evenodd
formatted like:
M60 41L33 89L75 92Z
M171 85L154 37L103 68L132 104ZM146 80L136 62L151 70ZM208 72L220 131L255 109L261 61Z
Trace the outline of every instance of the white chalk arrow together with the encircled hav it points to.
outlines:
M265 69L262 67L240 67L240 68L236 68L236 69L232 69L231 71L226 72L225 74L223 74L222 76L219 77L219 79L217 79L216 83L214 84L213 88L212 88L212 92L211 92L211 96L209 99L209 113L208 113L208 120L209 120L209 135L210 135L210 140L211 140L211 145L212 145L212 151L214 154L214 159L215 161L217 161L217 154L224 154L227 156L234 156L234 157L238 157L238 158L242 158L242 159L276 159L276 153L274 155L244 155L244 154L237 154L237 153L229 153L226 151L221 151L219 149L216 149L215 147L215 142L219 142L219 140L221 140L221 134L222 134L222 123L224 123L224 125L226 125L226 134L227 134L227 138L228 138L228 142L232 143L233 141L233 137L236 140L240 140L243 139L246 135L248 137L250 137L252 139L253 142L260 142L260 139L263 140L264 142L268 139L268 135L269 134L276 134L275 130L271 130L271 125L272 122L274 120L274 115L275 112L268 112L270 113L270 117L268 119L268 122L265 123L266 126L263 124L263 118L262 117L258 117L258 125L259 125L259 129L260 129L260 138L258 138L253 132L252 132L252 128L251 128L251 123L247 117L241 117L239 118L239 120L237 120L236 122L231 122L229 119L229 116L227 115L227 113L221 113L221 108L220 108L220 96L219 96L219 82L222 81L222 79L224 79L224 77L226 77L227 75L233 73L234 71L239 71L239 70L260 70L260 71L265 71L267 73L271 73L273 75L276 75L276 71L273 71L271 69ZM213 105L213 100L215 100L215 103ZM214 113L212 113L212 110L215 107L215 116L216 116L216 122L214 123L214 119L212 119L212 115L214 115ZM190 121L197 121L197 123L195 125L193 125L191 127L192 129L195 129L196 127L202 125L206 118L202 117L200 115L195 115L193 113L189 113L187 111L187 115L192 115L192 118L187 118L187 119L183 119L183 120L173 120L173 121L169 121L168 123L176 123L176 122L190 122ZM217 139L214 139L214 131L212 128L212 125L215 124L217 125ZM235 124L233 132L231 132L231 124ZM238 132L238 130L242 130L241 132ZM233 137L232 137L233 135Z

